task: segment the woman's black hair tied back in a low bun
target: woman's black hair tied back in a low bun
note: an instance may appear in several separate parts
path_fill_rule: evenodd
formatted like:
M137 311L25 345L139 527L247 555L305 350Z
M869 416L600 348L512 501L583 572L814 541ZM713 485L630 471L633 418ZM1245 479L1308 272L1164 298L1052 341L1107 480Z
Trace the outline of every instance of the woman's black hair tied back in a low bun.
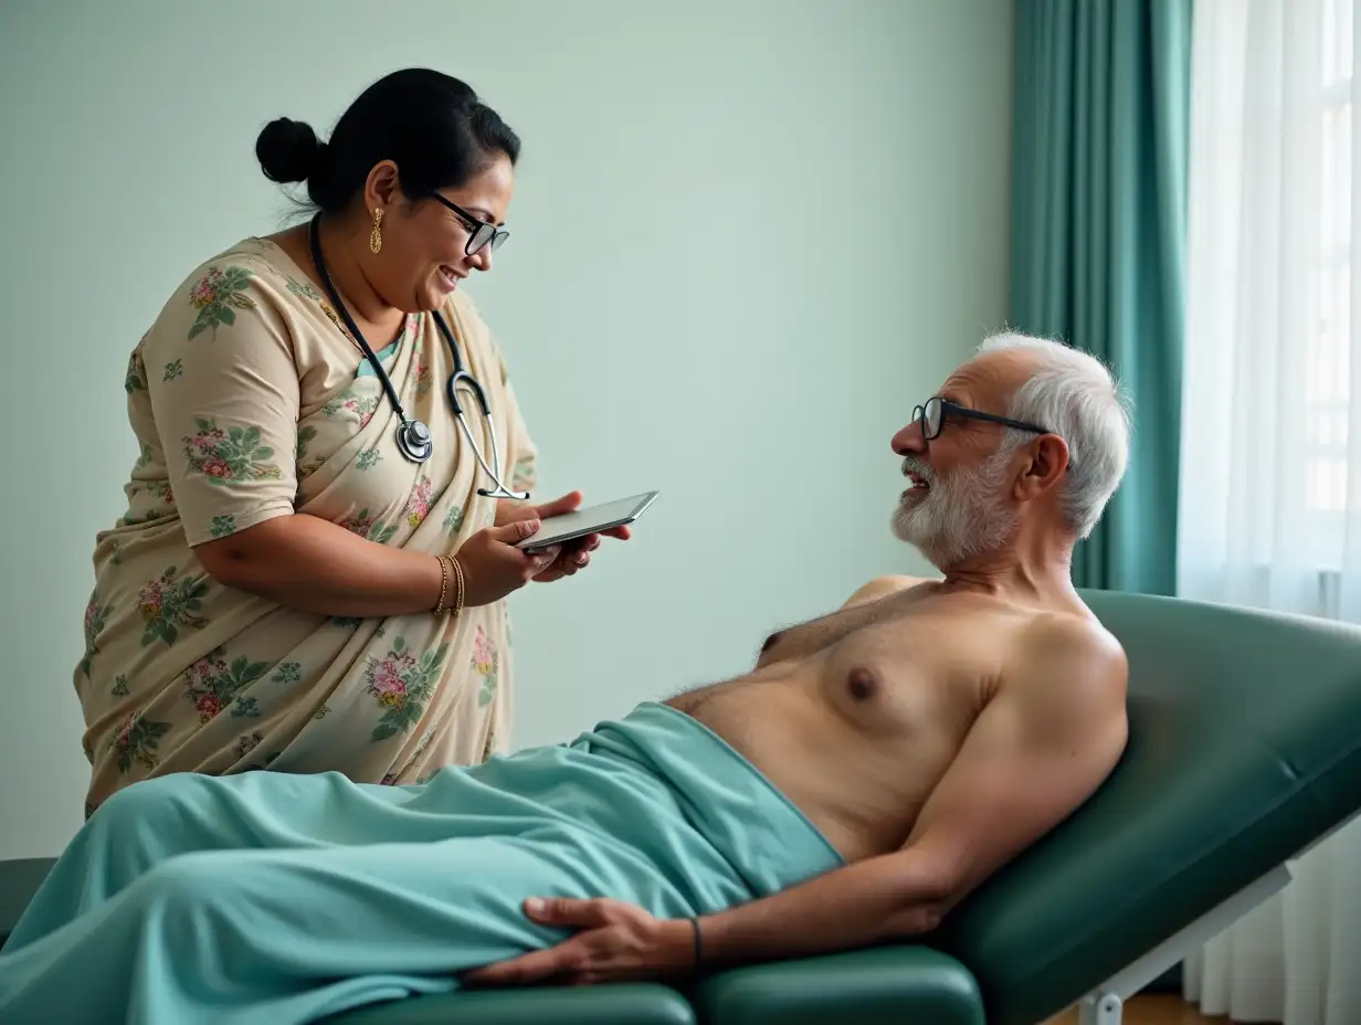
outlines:
M472 88L425 68L395 71L369 86L320 142L312 127L280 117L256 139L256 158L271 181L308 182L312 203L344 210L378 161L397 165L401 191L422 199L457 188L497 154L513 165L520 139Z

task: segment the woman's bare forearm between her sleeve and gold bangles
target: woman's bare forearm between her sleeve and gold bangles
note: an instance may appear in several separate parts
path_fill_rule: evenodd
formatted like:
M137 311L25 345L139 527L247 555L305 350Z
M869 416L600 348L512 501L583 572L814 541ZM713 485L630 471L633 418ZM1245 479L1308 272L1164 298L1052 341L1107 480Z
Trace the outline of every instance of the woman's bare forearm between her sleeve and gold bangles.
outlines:
M318 615L427 613L440 600L440 559L389 549L306 513L278 516L195 550L219 583ZM455 576L448 576L446 606Z

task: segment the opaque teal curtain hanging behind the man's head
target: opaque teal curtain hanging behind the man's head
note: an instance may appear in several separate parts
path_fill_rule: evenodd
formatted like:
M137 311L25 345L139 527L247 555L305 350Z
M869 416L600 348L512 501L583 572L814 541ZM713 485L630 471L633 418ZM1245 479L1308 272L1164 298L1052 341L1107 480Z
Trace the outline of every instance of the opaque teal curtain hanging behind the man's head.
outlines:
M1191 0L1017 0L1011 324L1101 357L1134 397L1130 470L1081 587L1170 595Z

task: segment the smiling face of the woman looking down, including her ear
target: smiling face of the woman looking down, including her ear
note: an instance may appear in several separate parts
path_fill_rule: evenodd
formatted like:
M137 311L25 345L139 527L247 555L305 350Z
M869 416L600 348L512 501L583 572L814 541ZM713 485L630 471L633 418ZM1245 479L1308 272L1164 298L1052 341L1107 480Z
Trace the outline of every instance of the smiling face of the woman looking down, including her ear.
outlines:
M365 250L365 276L385 302L407 313L440 309L459 282L472 271L491 270L491 245L471 256L468 240L478 222L505 223L514 192L514 173L505 154L495 154L459 188L440 195L475 221L430 197L407 197L399 188L400 170L380 163L365 189L367 218L381 208L382 248Z

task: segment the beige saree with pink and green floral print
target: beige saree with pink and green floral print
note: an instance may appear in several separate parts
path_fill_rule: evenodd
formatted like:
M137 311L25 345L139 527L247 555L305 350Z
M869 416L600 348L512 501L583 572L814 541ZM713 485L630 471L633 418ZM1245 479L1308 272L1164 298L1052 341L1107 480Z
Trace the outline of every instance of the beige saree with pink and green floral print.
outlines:
M499 474L535 479L506 365L467 297L442 316L495 418ZM269 768L415 783L501 749L510 715L504 602L388 618L325 617L210 577L193 547L308 513L380 544L456 551L495 500L453 419L453 357L430 314L378 350L434 456L408 461L382 385L325 297L278 245L249 238L197 268L128 363L140 453L128 510L97 539L75 687L86 811L136 780ZM476 403L464 402L491 459Z

